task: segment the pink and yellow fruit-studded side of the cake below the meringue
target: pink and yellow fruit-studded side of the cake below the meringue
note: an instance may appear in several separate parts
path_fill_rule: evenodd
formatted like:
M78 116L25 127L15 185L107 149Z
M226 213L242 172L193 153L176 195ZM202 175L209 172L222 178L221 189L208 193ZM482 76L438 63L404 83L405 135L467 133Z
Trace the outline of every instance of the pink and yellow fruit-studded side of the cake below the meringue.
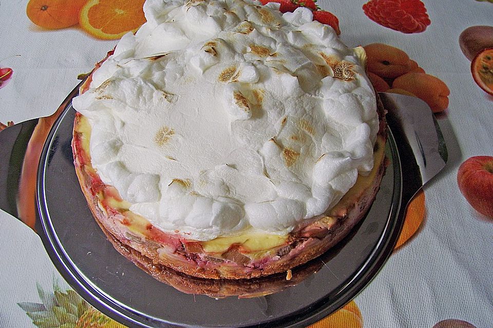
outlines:
M326 252L342 240L371 207L387 166L383 111L380 105L381 128L375 144L375 166L370 175L360 176L346 196L320 218L297 227L282 238L274 235L279 244L274 243L274 247L256 252L241 243L232 243L219 254L208 253L202 246L207 242L164 233L145 218L129 211L118 191L105 185L91 167L88 152L90 128L79 113L75 118L72 141L75 171L93 216L105 230L154 263L203 278L240 279L270 275L306 263ZM259 234L258 238L266 238L266 235Z

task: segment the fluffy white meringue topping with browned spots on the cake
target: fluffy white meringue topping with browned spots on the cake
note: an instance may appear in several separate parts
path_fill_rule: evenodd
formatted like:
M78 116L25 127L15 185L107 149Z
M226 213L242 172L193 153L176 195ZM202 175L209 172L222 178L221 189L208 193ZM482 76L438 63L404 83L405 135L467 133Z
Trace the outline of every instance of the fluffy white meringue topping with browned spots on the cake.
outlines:
M147 0L73 107L130 210L211 240L287 234L373 167L374 91L361 51L298 8Z

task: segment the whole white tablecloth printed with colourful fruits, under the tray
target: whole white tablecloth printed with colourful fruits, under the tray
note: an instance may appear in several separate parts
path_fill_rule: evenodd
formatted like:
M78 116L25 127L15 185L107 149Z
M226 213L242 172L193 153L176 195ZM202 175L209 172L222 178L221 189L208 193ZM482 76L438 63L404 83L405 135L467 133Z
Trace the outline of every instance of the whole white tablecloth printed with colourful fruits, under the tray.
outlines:
M275 2L281 11L308 7L348 46L364 46L374 88L426 101L449 153L411 202L382 271L312 327L492 327L493 2ZM145 22L142 5L1 0L0 129L52 114L118 38ZM30 228L0 217L0 327L122 326L70 289Z

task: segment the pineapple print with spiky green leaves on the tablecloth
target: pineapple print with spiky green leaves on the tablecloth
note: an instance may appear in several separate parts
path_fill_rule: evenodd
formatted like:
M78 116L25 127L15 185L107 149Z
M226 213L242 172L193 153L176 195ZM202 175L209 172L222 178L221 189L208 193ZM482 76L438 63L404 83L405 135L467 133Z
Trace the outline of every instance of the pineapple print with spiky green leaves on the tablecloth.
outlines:
M17 303L39 328L126 328L94 309L72 290L53 283L53 292L37 285L43 303Z

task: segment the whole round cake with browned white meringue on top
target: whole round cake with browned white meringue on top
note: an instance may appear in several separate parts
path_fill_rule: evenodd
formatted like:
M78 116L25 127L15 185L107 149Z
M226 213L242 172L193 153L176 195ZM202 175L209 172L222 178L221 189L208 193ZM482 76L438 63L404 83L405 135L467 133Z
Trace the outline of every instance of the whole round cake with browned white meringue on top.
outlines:
M147 0L72 105L93 216L149 263L201 278L286 272L346 236L385 172L365 53L251 0Z

